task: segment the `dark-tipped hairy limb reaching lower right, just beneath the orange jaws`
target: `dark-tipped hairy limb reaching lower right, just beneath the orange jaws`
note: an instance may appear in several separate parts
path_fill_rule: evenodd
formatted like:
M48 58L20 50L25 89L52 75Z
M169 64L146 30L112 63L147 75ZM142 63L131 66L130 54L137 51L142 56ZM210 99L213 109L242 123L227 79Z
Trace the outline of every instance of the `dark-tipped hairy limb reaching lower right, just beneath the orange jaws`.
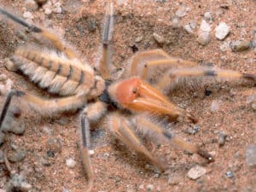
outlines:
M155 137L157 140L160 140L160 143L163 143L165 140L167 140L172 143L174 147L183 149L192 154L199 154L201 157L209 161L213 160L212 155L208 154L207 151L201 148L197 148L190 143L184 142L182 139L174 136L172 132L164 130L160 125L155 122L153 123L147 118L144 118L142 115L136 116L133 122L136 123L138 130L143 132L144 135L147 134L149 137Z

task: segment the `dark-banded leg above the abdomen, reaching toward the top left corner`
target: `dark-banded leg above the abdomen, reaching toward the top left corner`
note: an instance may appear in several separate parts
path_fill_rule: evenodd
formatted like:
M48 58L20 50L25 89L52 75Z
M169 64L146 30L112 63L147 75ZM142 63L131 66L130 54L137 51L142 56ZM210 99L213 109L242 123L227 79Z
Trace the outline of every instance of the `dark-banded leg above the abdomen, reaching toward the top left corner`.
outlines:
M49 41L55 46L56 49L59 49L60 51L65 53L68 58L70 59L76 58L76 55L73 52L73 50L68 48L64 44L62 44L61 40L57 38L54 33L48 32L38 26L28 24L25 20L22 20L19 17L12 15L3 9L0 9L0 14L7 16L10 20L14 20L15 22L19 23L21 26L25 26L30 32L40 33L44 38L49 39Z

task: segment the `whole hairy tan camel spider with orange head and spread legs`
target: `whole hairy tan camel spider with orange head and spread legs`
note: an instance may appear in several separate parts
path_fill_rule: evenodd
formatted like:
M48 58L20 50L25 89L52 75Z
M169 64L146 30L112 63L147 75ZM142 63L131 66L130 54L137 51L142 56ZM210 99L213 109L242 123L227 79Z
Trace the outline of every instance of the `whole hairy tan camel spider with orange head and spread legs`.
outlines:
M47 89L49 93L63 96L46 100L20 90L10 90L3 104L0 129L9 122L8 109L14 96L26 103L28 108L49 117L55 113L82 108L79 147L90 189L96 179L89 154L90 125L107 115L109 106L115 109L115 112L108 113L108 128L113 136L137 153L144 154L160 171L165 171L166 165L143 145L134 129L142 131L144 134L153 132L161 142L168 141L178 148L199 154L207 160L213 160L211 154L190 143L185 143L150 119L150 116L157 118L167 116L170 119L186 119L196 122L192 114L183 108L178 108L161 93L161 90L165 90L166 84L175 84L177 79L183 77L201 76L256 80L253 74L207 67L189 68L186 66L189 66L190 61L173 58L161 49L153 49L134 55L131 65L126 68L127 78L113 81L113 73L108 69L109 44L113 28L112 3L108 3L107 6L102 35L102 57L98 70L90 67L88 63L82 63L73 49L62 44L54 33L30 25L4 9L0 9L0 13L21 26L25 26L30 32L41 34L54 45L55 50L49 50L47 53L40 49L20 47L15 50L13 59L20 71L29 76L34 83ZM181 65L185 68L168 70L160 77L154 88L146 82L148 69L162 65L169 67Z

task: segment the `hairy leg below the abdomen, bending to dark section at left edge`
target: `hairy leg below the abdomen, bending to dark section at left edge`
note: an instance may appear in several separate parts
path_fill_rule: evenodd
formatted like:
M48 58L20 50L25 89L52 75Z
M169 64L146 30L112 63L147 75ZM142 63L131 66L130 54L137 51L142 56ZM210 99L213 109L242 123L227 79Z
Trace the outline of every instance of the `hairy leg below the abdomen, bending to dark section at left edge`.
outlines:
M8 112L9 105L14 96L18 96L19 99L22 100L21 104L25 103L28 108L32 108L32 110L43 115L50 115L54 113L61 113L68 110L78 109L86 103L85 96L67 96L64 98L44 100L38 96L26 94L25 92L20 90L10 90L4 102L3 110L1 112L0 129L3 125L3 120Z

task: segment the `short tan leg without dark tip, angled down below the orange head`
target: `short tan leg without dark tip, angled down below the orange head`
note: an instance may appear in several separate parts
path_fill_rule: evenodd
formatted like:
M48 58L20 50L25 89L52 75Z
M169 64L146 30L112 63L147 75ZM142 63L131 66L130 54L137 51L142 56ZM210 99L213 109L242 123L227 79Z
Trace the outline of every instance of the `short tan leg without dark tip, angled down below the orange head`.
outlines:
M163 165L163 163L154 157L143 143L141 143L131 130L131 125L126 122L126 119L121 118L118 114L113 114L109 119L109 129L112 131L113 136L125 143L129 148L135 150L137 153L144 154L148 160L151 160L151 162L160 169L160 171L163 172L166 170L166 165Z

